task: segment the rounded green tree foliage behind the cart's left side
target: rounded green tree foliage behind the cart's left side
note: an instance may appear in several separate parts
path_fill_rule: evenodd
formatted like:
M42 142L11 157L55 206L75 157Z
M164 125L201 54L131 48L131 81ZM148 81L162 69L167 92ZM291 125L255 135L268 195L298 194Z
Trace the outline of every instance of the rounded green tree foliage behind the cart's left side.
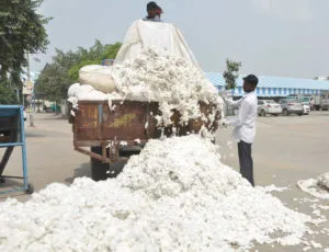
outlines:
M78 81L79 70L87 65L100 65L103 59L114 59L121 43L103 45L95 41L89 49L78 47L76 51L56 49L53 61L47 64L37 79L36 94L59 102L67 98L71 83Z

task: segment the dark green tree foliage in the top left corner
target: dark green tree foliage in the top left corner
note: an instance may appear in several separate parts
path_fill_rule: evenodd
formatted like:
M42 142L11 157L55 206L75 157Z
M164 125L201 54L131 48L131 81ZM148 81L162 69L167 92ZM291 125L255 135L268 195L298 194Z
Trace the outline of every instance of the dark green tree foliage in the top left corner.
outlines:
M26 53L44 51L48 44L44 25L49 19L36 13L43 0L0 1L0 80L21 85Z

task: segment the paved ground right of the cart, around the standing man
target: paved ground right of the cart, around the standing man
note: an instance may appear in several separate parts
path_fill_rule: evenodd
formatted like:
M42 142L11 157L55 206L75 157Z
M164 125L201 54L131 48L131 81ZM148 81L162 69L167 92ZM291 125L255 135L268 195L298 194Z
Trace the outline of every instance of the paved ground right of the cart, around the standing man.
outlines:
M222 147L225 163L239 170L236 144L229 148L231 128L218 130L217 144ZM310 214L310 203L300 204L294 198L311 198L296 186L299 180L316 177L329 171L329 112L314 112L306 116L259 117L253 145L254 179L258 185L288 186L288 191L274 193L292 209ZM329 205L329 201L320 204ZM273 209L275 210L275 209ZM329 210L322 214L329 219ZM329 222L321 225L329 228ZM329 248L328 236L310 236L311 240ZM303 251L303 247L269 248L259 251ZM324 251L309 250L309 251Z

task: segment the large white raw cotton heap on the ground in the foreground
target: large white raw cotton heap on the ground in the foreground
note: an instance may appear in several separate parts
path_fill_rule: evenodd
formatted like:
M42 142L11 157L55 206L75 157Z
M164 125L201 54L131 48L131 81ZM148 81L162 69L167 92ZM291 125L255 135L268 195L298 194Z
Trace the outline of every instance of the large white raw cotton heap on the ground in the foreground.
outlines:
M150 140L116 180L0 204L0 251L245 251L296 244L310 217L224 165L198 136Z

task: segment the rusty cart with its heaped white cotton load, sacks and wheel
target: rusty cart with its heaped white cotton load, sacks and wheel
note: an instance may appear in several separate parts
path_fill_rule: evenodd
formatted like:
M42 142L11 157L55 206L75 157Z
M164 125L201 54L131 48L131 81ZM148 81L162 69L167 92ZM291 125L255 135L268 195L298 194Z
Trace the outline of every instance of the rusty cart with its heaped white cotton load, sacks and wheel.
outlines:
M134 22L113 66L81 68L68 96L73 146L91 157L94 180L115 176L149 139L211 137L222 117L216 88L169 23Z

